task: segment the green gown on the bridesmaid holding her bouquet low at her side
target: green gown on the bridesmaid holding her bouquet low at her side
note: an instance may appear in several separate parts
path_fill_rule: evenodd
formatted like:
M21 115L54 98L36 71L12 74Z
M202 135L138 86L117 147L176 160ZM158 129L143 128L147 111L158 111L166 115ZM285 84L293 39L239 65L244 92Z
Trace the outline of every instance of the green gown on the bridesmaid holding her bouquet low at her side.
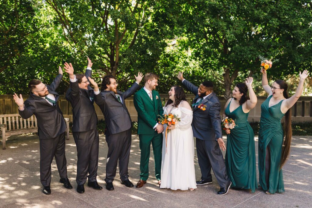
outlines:
M227 175L232 181L232 187L251 189L257 188L256 152L254 132L247 121L248 114L244 113L242 105L230 112L230 103L225 109L227 117L236 120L235 128L227 134L227 152L225 165Z

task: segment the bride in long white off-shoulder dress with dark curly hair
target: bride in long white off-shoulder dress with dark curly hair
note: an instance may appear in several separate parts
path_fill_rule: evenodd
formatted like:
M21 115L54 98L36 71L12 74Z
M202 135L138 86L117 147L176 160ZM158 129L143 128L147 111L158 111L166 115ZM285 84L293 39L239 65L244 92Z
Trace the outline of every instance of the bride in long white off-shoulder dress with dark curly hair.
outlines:
M193 111L186 101L183 88L171 87L164 114L174 114L181 119L168 126L167 145L164 125L160 188L191 190L196 188L194 167L194 140L191 123Z

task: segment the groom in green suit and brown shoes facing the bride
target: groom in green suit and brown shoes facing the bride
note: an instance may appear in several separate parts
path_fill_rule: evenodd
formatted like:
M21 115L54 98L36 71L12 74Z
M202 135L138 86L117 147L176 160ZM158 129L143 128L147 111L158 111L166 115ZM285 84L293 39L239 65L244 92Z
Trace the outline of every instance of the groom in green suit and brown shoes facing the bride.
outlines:
M158 123L158 115L163 115L160 96L155 90L158 85L158 75L147 73L144 75L144 88L134 94L134 107L138 112L138 134L140 140L140 180L136 187L140 188L149 177L149 153L152 143L155 176L160 184L161 150L163 146L163 125Z

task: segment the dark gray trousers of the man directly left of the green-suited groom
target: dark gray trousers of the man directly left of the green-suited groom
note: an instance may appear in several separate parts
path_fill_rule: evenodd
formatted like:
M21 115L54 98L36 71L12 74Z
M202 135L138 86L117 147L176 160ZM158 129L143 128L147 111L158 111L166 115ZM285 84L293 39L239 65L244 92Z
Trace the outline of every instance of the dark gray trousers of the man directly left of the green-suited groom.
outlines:
M117 162L119 163L120 180L125 181L129 177L128 165L131 148L131 128L120 133L105 135L105 138L108 146L105 182L114 181Z

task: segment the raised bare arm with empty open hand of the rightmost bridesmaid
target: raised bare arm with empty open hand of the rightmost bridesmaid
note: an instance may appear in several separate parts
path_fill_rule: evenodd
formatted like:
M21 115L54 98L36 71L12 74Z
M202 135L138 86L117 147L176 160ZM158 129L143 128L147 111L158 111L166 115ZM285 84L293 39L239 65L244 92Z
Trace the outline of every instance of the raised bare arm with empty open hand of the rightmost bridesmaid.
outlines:
M309 76L309 72L308 70L304 70L302 73L299 72L299 84L298 87L296 89L296 93L291 96L290 98L286 99L285 101L283 101L282 105L281 105L281 111L282 113L286 113L288 109L290 109L296 102L297 100L300 98L301 94L302 94L302 90L303 90L303 84L305 82L305 79Z

